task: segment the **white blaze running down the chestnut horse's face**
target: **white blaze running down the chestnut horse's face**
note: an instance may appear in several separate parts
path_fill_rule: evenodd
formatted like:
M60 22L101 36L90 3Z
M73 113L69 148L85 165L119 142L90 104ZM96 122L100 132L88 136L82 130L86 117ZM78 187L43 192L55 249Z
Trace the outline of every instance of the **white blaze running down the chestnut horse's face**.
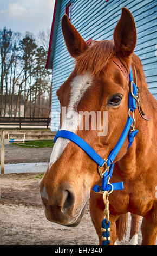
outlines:
M82 99L82 96L86 92L87 88L91 85L91 76L86 73L84 75L77 75L71 82L71 95L70 102L67 109L66 118L62 123L60 130L68 130L70 132L76 132L81 121L80 115L77 113L77 105ZM54 144L53 151L50 157L49 168L51 165L61 156L63 150L67 147L69 139L58 138Z

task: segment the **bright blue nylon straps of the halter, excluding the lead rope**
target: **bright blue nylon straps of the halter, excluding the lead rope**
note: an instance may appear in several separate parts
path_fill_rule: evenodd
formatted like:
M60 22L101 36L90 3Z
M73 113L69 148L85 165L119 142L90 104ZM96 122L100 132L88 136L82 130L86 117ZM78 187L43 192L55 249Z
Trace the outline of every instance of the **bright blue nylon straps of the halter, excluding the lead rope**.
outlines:
M133 82L132 67L130 67L129 81ZM138 92L138 90L136 88L135 83L133 82L133 94L136 96L137 92ZM134 112L134 110L136 109L136 101L130 92L129 92L128 109L130 109L130 111L132 111L132 112ZM117 156L123 143L125 142L127 135L128 135L128 139L129 139L129 145L128 145L128 149L129 149L130 145L132 145L132 143L133 143L134 137L138 133L138 130L129 132L132 123L133 123L133 118L130 115L127 118L126 126L122 131L119 141L117 142L114 149L110 152L109 156L107 157L106 164L109 167L109 170L108 170L108 172L104 173L104 175L103 175L102 186L99 187L99 186L95 185L93 187L93 190L95 192L99 192L100 189L101 189L101 191L111 190L111 185L108 184L108 178L111 178L112 173L113 173L113 167L114 167L113 161L115 160L115 157ZM69 139L70 141L73 141L80 148L82 148L91 157L91 159L93 159L100 167L102 167L103 164L105 163L105 160L99 154L97 154L96 151L93 148L91 148L90 145L86 141L84 141L82 138L77 136L75 133L67 131L67 130L59 130L54 138L54 142L56 142L58 137L66 138L66 139ZM113 188L113 190L122 190L123 182L117 182L115 184L112 184L112 188Z

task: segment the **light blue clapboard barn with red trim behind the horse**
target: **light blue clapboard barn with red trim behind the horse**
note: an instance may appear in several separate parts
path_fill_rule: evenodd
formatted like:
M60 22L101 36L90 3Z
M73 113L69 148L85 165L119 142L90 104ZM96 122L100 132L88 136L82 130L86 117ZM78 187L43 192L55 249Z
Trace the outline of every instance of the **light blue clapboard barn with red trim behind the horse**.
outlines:
M66 81L74 68L61 29L64 13L85 41L112 40L113 30L128 8L136 22L138 33L135 53L140 57L150 92L157 99L157 1L155 0L55 0L46 68L53 72L51 131L60 124L60 103L56 90Z

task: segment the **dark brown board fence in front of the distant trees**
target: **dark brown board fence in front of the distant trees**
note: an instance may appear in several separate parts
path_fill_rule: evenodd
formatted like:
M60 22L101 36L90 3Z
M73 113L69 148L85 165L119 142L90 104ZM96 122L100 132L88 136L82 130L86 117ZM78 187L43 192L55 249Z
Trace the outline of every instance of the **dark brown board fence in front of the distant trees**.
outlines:
M25 126L47 126L49 127L51 118L49 117L0 117L0 125L22 125Z

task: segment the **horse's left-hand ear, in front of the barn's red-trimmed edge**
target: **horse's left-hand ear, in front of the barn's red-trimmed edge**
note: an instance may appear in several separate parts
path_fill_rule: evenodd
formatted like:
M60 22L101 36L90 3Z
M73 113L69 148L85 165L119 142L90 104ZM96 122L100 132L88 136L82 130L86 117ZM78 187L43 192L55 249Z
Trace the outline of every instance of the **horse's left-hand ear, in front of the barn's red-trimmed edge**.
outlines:
M62 17L62 32L66 42L67 49L72 57L76 58L82 52L86 51L88 45L78 33L77 29L71 24L67 14Z

